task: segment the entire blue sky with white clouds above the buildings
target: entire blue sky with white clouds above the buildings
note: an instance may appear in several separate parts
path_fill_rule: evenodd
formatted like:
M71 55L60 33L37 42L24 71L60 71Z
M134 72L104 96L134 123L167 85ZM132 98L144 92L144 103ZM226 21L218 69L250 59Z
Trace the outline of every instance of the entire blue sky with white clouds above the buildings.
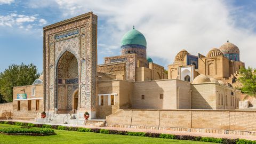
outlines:
M245 66L256 68L256 1L0 0L0 72L12 63L43 71L43 27L93 11L98 15L98 64L120 55L133 26L147 39L147 55L167 66L182 49L206 55L227 41Z

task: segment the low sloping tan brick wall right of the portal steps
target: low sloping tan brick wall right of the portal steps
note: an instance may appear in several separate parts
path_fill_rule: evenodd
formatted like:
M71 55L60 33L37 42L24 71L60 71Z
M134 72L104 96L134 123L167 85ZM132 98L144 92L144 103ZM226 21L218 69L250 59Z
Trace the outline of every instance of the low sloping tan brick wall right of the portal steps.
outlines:
M123 109L106 121L108 126L256 131L252 110Z

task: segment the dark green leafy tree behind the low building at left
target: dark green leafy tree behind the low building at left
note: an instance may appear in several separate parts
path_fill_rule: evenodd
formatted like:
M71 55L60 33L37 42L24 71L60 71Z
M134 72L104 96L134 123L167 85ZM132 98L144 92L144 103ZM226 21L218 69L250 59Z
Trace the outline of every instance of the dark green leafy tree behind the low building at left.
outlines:
M10 65L8 69L0 73L0 93L7 102L12 102L14 86L31 85L39 77L37 68L32 63L30 65Z

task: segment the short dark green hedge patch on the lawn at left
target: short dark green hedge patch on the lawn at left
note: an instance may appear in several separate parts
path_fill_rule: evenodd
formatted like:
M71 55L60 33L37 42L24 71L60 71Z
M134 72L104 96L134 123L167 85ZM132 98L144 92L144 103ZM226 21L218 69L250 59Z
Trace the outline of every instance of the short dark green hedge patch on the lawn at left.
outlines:
M24 134L24 135L52 135L55 134L52 129L38 129L38 128L30 128L30 127L9 127L9 128L1 128L0 133L4 134Z

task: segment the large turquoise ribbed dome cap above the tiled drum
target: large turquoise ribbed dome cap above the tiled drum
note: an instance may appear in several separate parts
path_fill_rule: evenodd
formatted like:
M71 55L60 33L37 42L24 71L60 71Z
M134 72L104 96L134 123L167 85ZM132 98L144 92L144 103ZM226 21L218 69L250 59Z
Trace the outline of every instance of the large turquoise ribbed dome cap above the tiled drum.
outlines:
M147 47L147 41L145 36L136 29L128 31L122 38L121 47L127 44L138 44Z

